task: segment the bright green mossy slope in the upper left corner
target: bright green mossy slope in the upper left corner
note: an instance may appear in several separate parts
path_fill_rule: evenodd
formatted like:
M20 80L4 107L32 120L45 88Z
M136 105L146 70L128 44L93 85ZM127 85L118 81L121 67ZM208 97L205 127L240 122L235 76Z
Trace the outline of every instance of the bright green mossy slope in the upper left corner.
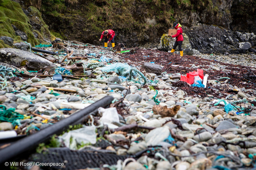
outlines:
M39 11L31 7L31 14L34 17L41 19L43 26L41 31L35 31L38 34L36 39L31 30L32 26L29 24L29 18L22 11L22 8L19 3L10 1L10 0L0 0L0 36L8 36L14 39L14 41L21 41L20 36L15 35L11 25L15 25L18 29L25 32L28 36L27 42L30 42L32 46L38 45L39 43L44 43L44 37L54 38L48 30L48 26L45 25L42 20L41 14ZM0 48L10 47L2 40L0 40Z

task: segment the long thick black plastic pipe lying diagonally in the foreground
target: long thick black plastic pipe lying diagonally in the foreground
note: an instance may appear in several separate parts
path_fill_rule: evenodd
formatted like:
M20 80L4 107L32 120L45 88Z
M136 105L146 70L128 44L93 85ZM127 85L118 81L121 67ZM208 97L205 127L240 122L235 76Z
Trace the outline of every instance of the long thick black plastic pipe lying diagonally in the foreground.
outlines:
M105 96L104 98L96 101L90 106L78 111L77 113L70 115L69 117L48 126L28 137L18 140L17 142L11 144L0 150L0 164L5 161L20 155L23 152L34 149L39 143L43 143L50 139L54 134L60 133L63 130L68 129L68 125L77 122L79 119L86 115L90 115L94 110L99 107L107 107L111 101L114 100L112 96Z

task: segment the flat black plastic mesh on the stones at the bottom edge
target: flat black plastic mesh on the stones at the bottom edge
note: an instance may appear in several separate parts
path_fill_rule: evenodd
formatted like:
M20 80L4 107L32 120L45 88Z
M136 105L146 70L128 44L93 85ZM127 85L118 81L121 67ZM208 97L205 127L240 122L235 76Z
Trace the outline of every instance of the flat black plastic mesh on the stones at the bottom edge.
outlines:
M104 164L115 165L121 159L127 156L119 156L110 153L88 153L84 151L71 151L68 148L51 148L45 153L36 153L30 157L30 160L40 163L64 163L64 166L43 166L44 169L83 169L100 167Z

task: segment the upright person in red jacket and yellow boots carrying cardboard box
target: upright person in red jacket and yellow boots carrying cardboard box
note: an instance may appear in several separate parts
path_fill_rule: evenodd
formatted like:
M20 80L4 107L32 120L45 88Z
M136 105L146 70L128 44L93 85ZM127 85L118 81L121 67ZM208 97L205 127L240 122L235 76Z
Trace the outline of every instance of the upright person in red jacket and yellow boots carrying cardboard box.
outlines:
M183 35L182 35L182 26L180 25L180 23L173 23L173 27L174 29L177 30L177 33L175 35L172 35L172 38L176 37L176 41L172 47L172 51L171 53L173 53L176 49L177 46L179 46L179 50L180 50L180 56L183 56L183 50L182 50L182 42L183 42Z

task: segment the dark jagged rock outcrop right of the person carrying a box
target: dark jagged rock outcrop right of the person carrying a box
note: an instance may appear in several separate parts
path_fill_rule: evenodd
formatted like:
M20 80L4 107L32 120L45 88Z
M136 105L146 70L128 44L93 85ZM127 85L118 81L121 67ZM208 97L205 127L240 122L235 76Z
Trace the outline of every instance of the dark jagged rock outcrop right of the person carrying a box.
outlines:
M191 46L201 53L240 54L256 44L254 33L233 32L220 26L198 24L186 29Z

